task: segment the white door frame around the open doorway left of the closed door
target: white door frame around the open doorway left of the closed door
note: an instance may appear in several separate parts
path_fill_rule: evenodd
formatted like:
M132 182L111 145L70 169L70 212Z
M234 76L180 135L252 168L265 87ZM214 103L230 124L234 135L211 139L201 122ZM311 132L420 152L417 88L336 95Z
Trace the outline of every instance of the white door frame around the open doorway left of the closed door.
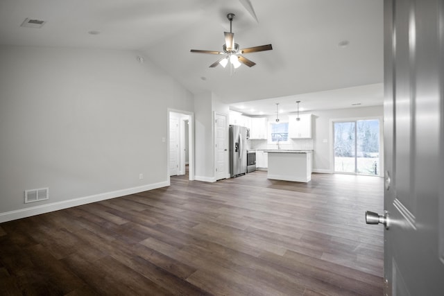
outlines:
M171 112L174 113L178 113L178 114L183 114L188 116L188 153L189 153L189 180L193 181L194 180L194 112L189 112L189 111L185 111L185 110L177 110L177 109L172 109L172 108L168 108L167 109L167 182L168 184L170 184L170 175L169 175L169 121L170 121L170 114ZM182 125L183 120L180 119L179 123L180 125ZM180 142L182 143L182 139L184 139L183 135L182 135L182 130L183 128L179 127L179 132L180 132ZM180 153L180 163L182 164L182 162L185 162L185 159L182 159L182 155L183 153ZM185 169L185 168L184 168Z

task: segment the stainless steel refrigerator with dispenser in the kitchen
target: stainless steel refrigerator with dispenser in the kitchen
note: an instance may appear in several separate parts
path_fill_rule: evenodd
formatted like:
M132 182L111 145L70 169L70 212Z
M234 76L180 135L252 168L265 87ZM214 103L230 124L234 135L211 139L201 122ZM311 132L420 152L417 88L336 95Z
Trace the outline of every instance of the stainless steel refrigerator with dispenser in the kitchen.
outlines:
M230 125L230 176L237 177L247 172L248 129Z

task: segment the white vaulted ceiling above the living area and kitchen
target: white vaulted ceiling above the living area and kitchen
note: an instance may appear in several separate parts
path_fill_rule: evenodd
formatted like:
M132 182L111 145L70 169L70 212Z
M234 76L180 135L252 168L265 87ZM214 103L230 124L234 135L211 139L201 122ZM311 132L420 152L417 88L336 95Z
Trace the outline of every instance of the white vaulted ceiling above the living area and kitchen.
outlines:
M209 68L217 55L189 52L222 50L228 12L241 48L273 44L234 73ZM26 17L46 24L23 28ZM1 0L0 44L135 50L236 110L382 104L383 0Z

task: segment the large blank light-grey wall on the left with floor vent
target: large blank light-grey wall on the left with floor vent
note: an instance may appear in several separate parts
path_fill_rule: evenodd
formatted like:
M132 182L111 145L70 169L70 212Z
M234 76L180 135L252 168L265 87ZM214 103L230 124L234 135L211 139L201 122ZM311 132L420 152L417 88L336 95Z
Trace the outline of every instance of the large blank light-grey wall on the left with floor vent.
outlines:
M192 112L193 95L137 55L0 46L0 222L168 185L167 108ZM50 199L24 204L41 187Z

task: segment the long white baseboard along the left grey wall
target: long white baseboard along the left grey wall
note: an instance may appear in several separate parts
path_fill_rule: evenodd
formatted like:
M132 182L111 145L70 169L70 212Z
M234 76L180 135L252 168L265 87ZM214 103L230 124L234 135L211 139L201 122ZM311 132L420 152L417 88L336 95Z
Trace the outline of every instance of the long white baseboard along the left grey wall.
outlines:
M28 207L26 209L17 209L15 211L7 211L0 213L0 223L12 221L16 219L31 217L35 215L49 213L51 211L58 211L60 209L67 209L69 207L77 207L82 204L89 204L91 202L99 202L101 200L109 200L111 198L119 198L129 194L139 193L143 191L153 190L161 187L169 186L170 182L159 182L155 184L147 184L144 186L137 186L128 189L121 189L112 192L99 193L95 195L85 196L83 198L73 198L71 200L63 200L61 202L51 202L49 204L42 204L35 207Z

